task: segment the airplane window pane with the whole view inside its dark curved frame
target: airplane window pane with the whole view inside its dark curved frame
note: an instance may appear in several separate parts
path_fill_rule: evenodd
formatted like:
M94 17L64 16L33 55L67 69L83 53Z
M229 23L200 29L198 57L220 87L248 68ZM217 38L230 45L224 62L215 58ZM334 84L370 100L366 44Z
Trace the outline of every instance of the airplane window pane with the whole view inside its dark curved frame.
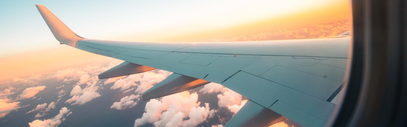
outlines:
M17 47L0 48L0 126L324 127L338 115L349 0L90 4L7 7L35 18L0 24L15 42L0 47Z

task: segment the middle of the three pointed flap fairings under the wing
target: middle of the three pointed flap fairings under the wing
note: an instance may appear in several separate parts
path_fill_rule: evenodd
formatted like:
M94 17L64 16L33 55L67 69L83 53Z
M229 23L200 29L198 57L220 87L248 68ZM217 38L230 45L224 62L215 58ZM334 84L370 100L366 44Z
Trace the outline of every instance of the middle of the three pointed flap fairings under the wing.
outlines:
M202 85L210 83L202 79L189 77L181 74L173 73L168 78L164 79L157 85L147 90L142 94L143 101L155 99L171 94L176 94L186 90L191 90Z

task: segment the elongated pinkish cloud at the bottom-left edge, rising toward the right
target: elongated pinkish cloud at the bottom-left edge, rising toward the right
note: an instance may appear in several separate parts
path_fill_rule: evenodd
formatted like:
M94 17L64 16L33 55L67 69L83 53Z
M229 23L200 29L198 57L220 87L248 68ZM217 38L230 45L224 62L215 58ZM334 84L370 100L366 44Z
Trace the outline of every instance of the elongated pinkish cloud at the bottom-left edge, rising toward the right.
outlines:
M45 119L45 120L34 120L31 123L28 123L30 127L56 127L62 123L62 121L65 120L67 116L69 116L72 112L66 107L61 108L59 110L59 114L57 116L50 118L50 119Z

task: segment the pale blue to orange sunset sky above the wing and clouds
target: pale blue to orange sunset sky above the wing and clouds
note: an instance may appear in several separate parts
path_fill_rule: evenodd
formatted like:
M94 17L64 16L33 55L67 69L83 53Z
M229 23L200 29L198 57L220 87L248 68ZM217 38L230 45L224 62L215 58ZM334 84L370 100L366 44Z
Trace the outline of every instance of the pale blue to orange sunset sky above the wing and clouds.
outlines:
M346 0L3 1L0 81L101 58L59 45L34 4L90 39L230 42L324 38L350 30Z

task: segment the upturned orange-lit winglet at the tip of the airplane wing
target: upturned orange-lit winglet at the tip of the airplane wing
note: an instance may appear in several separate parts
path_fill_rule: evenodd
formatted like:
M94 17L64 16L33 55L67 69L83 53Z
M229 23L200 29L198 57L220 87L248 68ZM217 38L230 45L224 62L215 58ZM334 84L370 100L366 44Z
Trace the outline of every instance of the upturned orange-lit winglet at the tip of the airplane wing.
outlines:
M57 16L55 16L50 10L48 10L44 5L35 5L41 13L42 18L44 18L54 37L64 44L65 42L77 41L84 39L83 37L74 33L68 26L66 26Z

